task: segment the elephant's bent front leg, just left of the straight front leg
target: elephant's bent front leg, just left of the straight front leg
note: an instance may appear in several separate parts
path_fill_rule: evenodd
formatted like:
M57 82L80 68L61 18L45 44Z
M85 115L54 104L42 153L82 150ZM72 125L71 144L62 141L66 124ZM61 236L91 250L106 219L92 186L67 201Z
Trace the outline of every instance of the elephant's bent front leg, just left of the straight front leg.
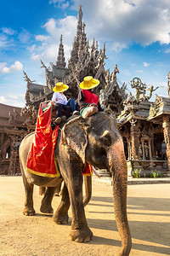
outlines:
M62 189L62 198L61 202L59 204L59 207L57 208L57 211L54 213L54 222L56 224L67 224L69 217L68 217L68 210L70 207L70 198L68 194L68 189L64 183L63 189Z

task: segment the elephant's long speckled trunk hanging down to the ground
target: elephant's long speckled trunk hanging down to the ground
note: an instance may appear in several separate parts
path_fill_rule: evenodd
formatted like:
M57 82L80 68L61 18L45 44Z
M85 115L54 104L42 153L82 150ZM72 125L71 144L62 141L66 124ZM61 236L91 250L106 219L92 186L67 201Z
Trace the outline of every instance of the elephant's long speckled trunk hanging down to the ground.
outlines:
M127 222L127 162L121 138L111 146L108 159L111 172L113 173L116 225L122 240L120 255L129 255L132 240Z

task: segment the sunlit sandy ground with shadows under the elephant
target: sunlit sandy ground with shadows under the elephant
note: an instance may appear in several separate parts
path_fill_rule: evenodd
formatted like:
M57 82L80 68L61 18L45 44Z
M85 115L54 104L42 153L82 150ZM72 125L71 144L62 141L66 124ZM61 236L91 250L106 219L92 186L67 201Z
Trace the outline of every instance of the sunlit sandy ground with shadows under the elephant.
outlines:
M54 224L39 211L42 196L34 190L35 216L24 216L21 177L0 177L0 255L118 255L121 247L112 204L111 181L93 177L93 197L85 208L92 241L69 241L69 224ZM54 210L60 198L54 197ZM133 237L130 255L170 255L170 184L128 186L127 213Z

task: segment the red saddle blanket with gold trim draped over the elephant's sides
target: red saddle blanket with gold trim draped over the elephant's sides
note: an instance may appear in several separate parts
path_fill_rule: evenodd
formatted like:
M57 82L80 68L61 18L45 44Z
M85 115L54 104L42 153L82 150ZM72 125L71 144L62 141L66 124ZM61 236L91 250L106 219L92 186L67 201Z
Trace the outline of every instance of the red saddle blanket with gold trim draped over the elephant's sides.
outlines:
M42 113L40 107L37 116L37 127L26 163L28 172L43 177L60 177L54 154L58 132L59 125L54 130L51 128L51 107L44 113ZM92 173L92 166L89 166L86 162L82 174L90 176Z

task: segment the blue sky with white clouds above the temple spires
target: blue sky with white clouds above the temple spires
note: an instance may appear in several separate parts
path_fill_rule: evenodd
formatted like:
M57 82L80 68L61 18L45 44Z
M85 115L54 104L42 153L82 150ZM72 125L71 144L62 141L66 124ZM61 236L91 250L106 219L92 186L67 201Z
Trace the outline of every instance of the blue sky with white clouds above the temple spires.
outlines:
M169 0L8 0L1 2L0 102L23 107L26 81L23 70L37 84L45 84L40 59L55 62L60 34L65 59L77 30L77 9L82 4L89 42L106 44L105 68L118 65L117 79L128 84L139 77L167 96L170 71ZM151 98L155 100L155 95Z

